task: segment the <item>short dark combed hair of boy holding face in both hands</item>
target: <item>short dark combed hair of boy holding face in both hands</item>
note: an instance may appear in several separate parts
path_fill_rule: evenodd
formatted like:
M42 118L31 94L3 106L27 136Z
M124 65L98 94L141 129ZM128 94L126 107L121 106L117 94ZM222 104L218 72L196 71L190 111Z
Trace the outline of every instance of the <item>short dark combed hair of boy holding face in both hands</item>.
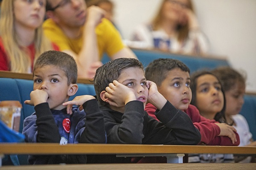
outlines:
M143 64L134 58L114 59L96 70L93 85L96 91L97 99L101 105L107 106L108 103L104 102L100 98L100 93L105 91L105 88L108 87L109 83L117 80L124 69L131 67L141 68L143 70Z

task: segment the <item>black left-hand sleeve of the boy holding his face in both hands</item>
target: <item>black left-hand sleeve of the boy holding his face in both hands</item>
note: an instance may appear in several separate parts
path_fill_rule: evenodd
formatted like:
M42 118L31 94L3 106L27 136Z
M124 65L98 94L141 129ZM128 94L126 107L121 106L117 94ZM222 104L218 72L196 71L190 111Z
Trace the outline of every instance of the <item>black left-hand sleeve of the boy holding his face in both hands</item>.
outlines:
M125 105L121 121L116 120L109 111L105 114L105 129L108 143L141 144L143 135L143 102L131 101ZM117 113L116 113L117 114ZM119 116L119 115L118 115ZM121 116L121 115L120 115Z

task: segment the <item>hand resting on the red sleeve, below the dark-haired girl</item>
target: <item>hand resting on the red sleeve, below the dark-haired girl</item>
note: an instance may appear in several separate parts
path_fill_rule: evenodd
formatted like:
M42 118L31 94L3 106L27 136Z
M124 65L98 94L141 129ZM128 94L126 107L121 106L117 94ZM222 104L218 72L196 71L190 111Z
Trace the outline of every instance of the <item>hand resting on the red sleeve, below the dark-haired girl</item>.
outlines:
M228 136L232 143L234 144L237 139L236 139L236 132L235 127L227 125L226 123L215 123L215 125L218 125L218 127L221 129L221 132L218 136Z

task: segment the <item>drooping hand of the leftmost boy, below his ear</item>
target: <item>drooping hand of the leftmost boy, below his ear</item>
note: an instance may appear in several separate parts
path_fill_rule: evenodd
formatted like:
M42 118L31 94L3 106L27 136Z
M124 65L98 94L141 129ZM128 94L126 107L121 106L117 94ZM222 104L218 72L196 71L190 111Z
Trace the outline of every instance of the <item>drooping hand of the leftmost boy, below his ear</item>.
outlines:
M67 105L67 114L72 114L72 107L73 105L80 105L79 110L83 110L83 104L88 100L95 99L94 96L91 95L83 95L83 96L76 96L72 101L64 102L62 105Z

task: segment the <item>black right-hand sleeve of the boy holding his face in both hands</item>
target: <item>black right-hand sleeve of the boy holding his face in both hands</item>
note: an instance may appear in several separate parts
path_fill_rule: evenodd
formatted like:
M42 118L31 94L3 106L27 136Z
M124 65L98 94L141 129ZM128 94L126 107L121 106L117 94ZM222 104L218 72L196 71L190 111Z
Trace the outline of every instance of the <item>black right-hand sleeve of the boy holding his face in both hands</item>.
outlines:
M189 116L183 111L175 108L169 101L155 115L163 123L164 127L154 125L158 133L155 137L163 139L165 144L195 145L201 141L201 134L193 125ZM168 133L169 132L169 133ZM163 136L166 136L163 138ZM175 140L174 140L175 139Z

